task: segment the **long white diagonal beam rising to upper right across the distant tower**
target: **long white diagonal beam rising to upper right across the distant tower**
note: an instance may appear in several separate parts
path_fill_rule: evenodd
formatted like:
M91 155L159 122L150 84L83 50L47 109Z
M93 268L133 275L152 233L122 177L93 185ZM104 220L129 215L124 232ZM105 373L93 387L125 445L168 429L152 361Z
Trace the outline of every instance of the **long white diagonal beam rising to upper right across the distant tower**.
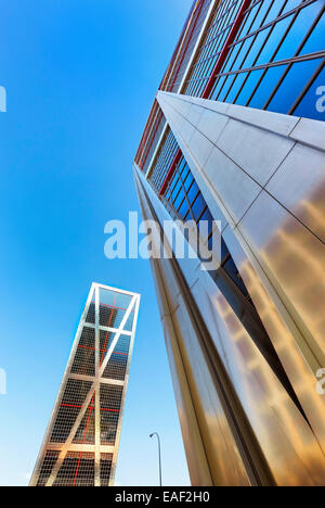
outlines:
M120 326L119 326L119 328L117 329L117 331L115 333L115 338L112 341L112 344L110 344L110 346L109 346L109 348L108 348L108 351L107 351L107 353L105 355L104 361L102 363L102 365L101 365L101 367L100 367L100 369L98 371L98 376L95 377L95 380L91 385L91 389L90 389L90 391L89 391L89 393L88 393L88 395L87 395L87 397L84 399L84 403L82 404L80 412L79 412L79 415L78 415L78 417L77 417L77 419L76 419L76 421L75 421L75 423L74 423L74 426L73 426L73 428L70 430L70 433L69 433L67 440L65 441L65 443L63 444L62 450L60 452L60 455L57 457L57 461L56 461L56 463L55 463L55 466L54 466L54 468L53 468L53 470L51 472L51 475L49 477L49 480L47 481L46 486L52 486L53 483L55 482L58 470L60 470L60 468L61 468L61 466L62 466L62 463L63 463L63 461L65 459L66 454L68 453L68 448L70 447L70 445L72 445L72 443L74 441L76 432L77 432L77 430L78 430L78 428L79 428L79 426L80 426L80 423L82 421L82 418L83 418L83 416L84 416L84 414L87 411L88 406L91 403L93 394L95 393L96 389L100 386L101 378L103 377L103 373L104 373L104 370L105 370L105 368L107 366L107 363L109 361L112 353L116 347L117 341L119 340L121 333L123 332L123 328L125 328L126 322L129 319L129 316L130 316L130 314L131 314L131 312L132 312L132 309L134 307L135 301L136 301L136 296L134 295L134 296L132 296L132 300L131 300L131 302L130 302L130 304L128 306L128 309L127 309L127 312L126 312L126 314L125 314L125 316L123 316L123 318L122 318L122 320L120 322Z

